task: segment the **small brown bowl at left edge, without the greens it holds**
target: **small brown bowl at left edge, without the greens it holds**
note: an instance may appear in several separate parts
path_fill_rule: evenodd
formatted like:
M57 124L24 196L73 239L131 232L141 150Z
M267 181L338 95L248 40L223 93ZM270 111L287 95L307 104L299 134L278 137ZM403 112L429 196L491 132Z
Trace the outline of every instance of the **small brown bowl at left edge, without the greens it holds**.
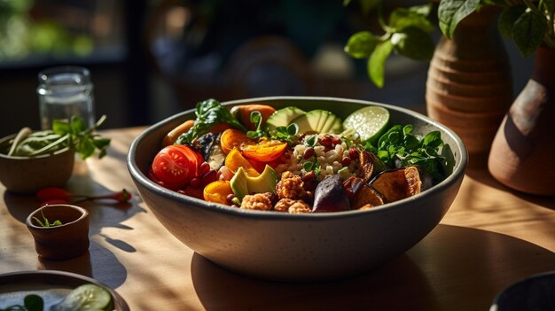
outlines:
M15 135L0 139L0 149ZM36 157L12 157L0 153L0 182L7 190L33 193L47 186L63 186L74 170L74 152L69 148Z

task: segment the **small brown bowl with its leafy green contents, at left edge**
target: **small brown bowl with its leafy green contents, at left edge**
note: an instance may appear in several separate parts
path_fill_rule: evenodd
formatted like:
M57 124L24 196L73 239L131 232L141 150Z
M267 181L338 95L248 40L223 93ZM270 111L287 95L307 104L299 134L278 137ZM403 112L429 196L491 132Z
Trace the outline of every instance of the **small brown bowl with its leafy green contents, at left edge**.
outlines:
M110 139L94 130L103 116L87 128L80 118L56 120L51 130L22 128L17 135L0 139L0 182L7 190L33 193L46 186L62 186L73 173L74 154L86 159L106 154Z

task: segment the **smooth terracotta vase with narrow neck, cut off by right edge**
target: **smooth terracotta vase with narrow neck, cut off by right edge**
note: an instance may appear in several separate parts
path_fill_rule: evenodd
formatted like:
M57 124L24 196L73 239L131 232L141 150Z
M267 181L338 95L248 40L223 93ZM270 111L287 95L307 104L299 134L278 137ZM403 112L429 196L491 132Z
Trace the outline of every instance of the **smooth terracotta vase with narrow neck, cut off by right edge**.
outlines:
M514 100L489 153L489 172L523 192L555 195L555 50L535 52L532 77Z

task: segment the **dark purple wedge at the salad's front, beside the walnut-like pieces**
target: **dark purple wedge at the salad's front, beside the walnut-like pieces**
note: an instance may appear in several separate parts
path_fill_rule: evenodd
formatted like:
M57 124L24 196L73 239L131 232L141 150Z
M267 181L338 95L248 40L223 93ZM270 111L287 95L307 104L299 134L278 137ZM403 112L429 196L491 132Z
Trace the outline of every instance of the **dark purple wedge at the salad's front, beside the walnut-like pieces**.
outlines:
M340 212L351 209L347 191L343 188L340 175L332 175L318 183L314 190L313 213Z

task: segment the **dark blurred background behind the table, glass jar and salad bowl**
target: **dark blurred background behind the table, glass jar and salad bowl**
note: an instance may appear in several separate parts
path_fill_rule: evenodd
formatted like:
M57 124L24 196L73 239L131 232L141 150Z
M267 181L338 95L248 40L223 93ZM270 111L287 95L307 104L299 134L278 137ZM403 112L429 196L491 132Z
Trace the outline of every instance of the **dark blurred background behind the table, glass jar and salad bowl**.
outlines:
M90 69L104 128L152 124L209 97L349 97L423 111L428 63L394 55L375 87L366 60L343 46L378 29L378 0L344 2L0 0L0 135L39 128L36 74L62 65ZM383 3L387 16L428 1ZM520 88L532 59L508 50Z

